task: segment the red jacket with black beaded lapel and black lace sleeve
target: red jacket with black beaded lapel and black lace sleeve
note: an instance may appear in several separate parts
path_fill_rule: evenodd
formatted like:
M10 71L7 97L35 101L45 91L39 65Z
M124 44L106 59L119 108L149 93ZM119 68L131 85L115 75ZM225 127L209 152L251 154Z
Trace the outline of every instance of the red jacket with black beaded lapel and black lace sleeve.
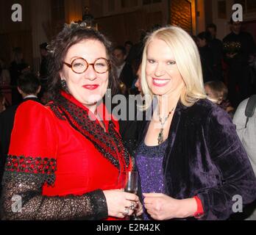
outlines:
M118 122L104 104L97 110L106 131L64 92L46 106L27 101L18 107L4 173L3 219L107 218L102 190L120 189L118 176L132 169L132 161ZM21 196L19 213L13 195Z

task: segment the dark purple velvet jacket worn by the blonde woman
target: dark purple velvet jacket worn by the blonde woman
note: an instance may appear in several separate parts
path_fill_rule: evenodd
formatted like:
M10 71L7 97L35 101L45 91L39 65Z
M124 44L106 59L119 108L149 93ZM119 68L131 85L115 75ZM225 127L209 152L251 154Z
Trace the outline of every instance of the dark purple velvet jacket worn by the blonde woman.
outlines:
M143 122L139 142L146 134ZM256 199L256 178L230 116L207 99L193 106L178 104L163 160L166 194L202 200L201 220L226 220L241 195ZM232 200L233 199L233 200ZM235 207L235 206L234 206Z

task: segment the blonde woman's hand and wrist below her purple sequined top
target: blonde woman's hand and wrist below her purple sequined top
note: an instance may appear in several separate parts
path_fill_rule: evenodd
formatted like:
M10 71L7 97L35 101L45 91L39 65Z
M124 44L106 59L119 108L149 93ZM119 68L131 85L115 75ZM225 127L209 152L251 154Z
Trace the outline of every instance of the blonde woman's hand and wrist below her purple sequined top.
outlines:
M191 217L197 210L196 200L174 199L162 193L143 193L146 211L154 220Z

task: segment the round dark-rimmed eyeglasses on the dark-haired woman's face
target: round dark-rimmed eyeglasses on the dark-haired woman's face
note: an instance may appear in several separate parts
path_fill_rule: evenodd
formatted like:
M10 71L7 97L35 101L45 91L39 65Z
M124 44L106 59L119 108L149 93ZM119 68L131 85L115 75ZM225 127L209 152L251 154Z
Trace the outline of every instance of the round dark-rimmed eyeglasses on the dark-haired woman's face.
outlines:
M96 73L107 73L110 70L110 61L103 57L97 58L94 63L88 63L86 59L82 57L77 57L72 60L71 64L63 61L65 65L71 68L74 73L84 73L90 65L93 66Z

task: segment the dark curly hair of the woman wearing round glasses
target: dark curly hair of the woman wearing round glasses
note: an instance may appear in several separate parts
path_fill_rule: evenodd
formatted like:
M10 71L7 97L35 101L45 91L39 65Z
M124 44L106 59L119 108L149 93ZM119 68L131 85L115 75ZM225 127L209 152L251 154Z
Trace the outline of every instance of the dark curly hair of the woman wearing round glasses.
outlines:
M48 93L51 99L60 98L60 71L63 69L63 60L65 59L68 49L74 44L82 40L99 40L107 52L107 59L110 60L109 87L112 94L115 94L118 89L118 81L116 80L113 71L113 56L111 54L112 46L109 40L104 35L93 28L86 28L81 24L65 24L63 31L47 46L47 50L51 54L49 62L49 79Z

